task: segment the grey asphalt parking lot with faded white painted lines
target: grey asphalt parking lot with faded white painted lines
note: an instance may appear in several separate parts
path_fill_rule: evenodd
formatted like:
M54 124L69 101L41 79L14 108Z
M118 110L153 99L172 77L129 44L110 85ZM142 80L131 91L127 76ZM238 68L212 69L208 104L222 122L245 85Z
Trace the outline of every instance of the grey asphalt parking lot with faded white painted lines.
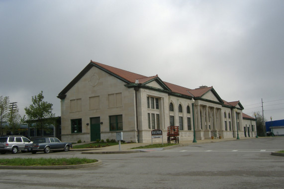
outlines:
M0 170L0 189L279 189L284 186L284 137L252 138L130 154L18 153L0 158L86 157L97 167Z

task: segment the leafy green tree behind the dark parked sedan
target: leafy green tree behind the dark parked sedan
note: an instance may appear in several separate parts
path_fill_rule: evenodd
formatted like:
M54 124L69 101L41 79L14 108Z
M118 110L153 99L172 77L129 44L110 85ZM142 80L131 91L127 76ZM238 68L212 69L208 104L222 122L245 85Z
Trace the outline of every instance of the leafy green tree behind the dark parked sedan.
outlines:
M32 96L32 104L24 108L29 122L34 120L41 131L48 125L54 124L55 118L55 114L52 113L53 104L43 101L44 96L42 93L41 91L38 95ZM41 132L41 135L43 136L43 132Z

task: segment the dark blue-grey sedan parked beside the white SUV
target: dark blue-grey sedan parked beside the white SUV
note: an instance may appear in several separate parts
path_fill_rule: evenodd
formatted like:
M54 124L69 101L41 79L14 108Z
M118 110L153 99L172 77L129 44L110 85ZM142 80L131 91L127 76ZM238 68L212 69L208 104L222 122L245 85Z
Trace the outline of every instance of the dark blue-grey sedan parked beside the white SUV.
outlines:
M38 151L49 153L50 151L64 150L68 152L70 148L72 148L72 143L70 142L61 142L55 137L45 137L34 139L33 143L25 145L24 149L35 154Z

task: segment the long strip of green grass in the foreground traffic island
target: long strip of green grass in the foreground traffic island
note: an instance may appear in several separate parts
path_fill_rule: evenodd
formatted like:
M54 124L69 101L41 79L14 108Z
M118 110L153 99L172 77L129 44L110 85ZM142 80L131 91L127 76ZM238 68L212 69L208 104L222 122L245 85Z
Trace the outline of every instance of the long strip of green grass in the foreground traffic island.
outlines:
M62 166L95 163L95 159L86 158L13 158L0 159L0 166Z

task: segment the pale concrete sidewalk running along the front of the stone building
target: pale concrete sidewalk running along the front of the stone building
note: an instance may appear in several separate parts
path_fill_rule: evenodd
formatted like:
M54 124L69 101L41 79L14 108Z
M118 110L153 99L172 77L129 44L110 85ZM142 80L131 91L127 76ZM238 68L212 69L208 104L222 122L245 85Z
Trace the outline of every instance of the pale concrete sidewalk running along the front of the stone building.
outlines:
M240 138L240 140L244 139L252 139L251 138ZM169 149L169 148L175 148L178 146L190 146L190 145L196 145L196 144L205 144L205 143L211 143L211 142L223 142L223 141L232 141L232 140L237 140L236 138L228 138L228 139L205 139L205 140L197 140L197 143L192 143L192 141L185 140L185 141L180 141L178 145L174 146L168 146L165 148L148 148L148 149L130 149L130 148L135 148L139 146L146 146L151 143L130 143L130 144L121 144L121 150L119 151L119 145L114 145L114 146L108 146L108 147L103 147L103 148L87 148L87 149L70 149L71 151L79 151L82 152L82 154L124 154L124 153L138 153L138 152L151 152L151 151L159 151L163 149ZM161 142L155 142L161 143ZM153 142L153 144L155 144ZM167 141L166 141L167 143ZM81 143L80 143L81 144ZM77 144L77 145L80 145ZM164 143L165 144L165 143ZM75 144L76 145L76 144Z

